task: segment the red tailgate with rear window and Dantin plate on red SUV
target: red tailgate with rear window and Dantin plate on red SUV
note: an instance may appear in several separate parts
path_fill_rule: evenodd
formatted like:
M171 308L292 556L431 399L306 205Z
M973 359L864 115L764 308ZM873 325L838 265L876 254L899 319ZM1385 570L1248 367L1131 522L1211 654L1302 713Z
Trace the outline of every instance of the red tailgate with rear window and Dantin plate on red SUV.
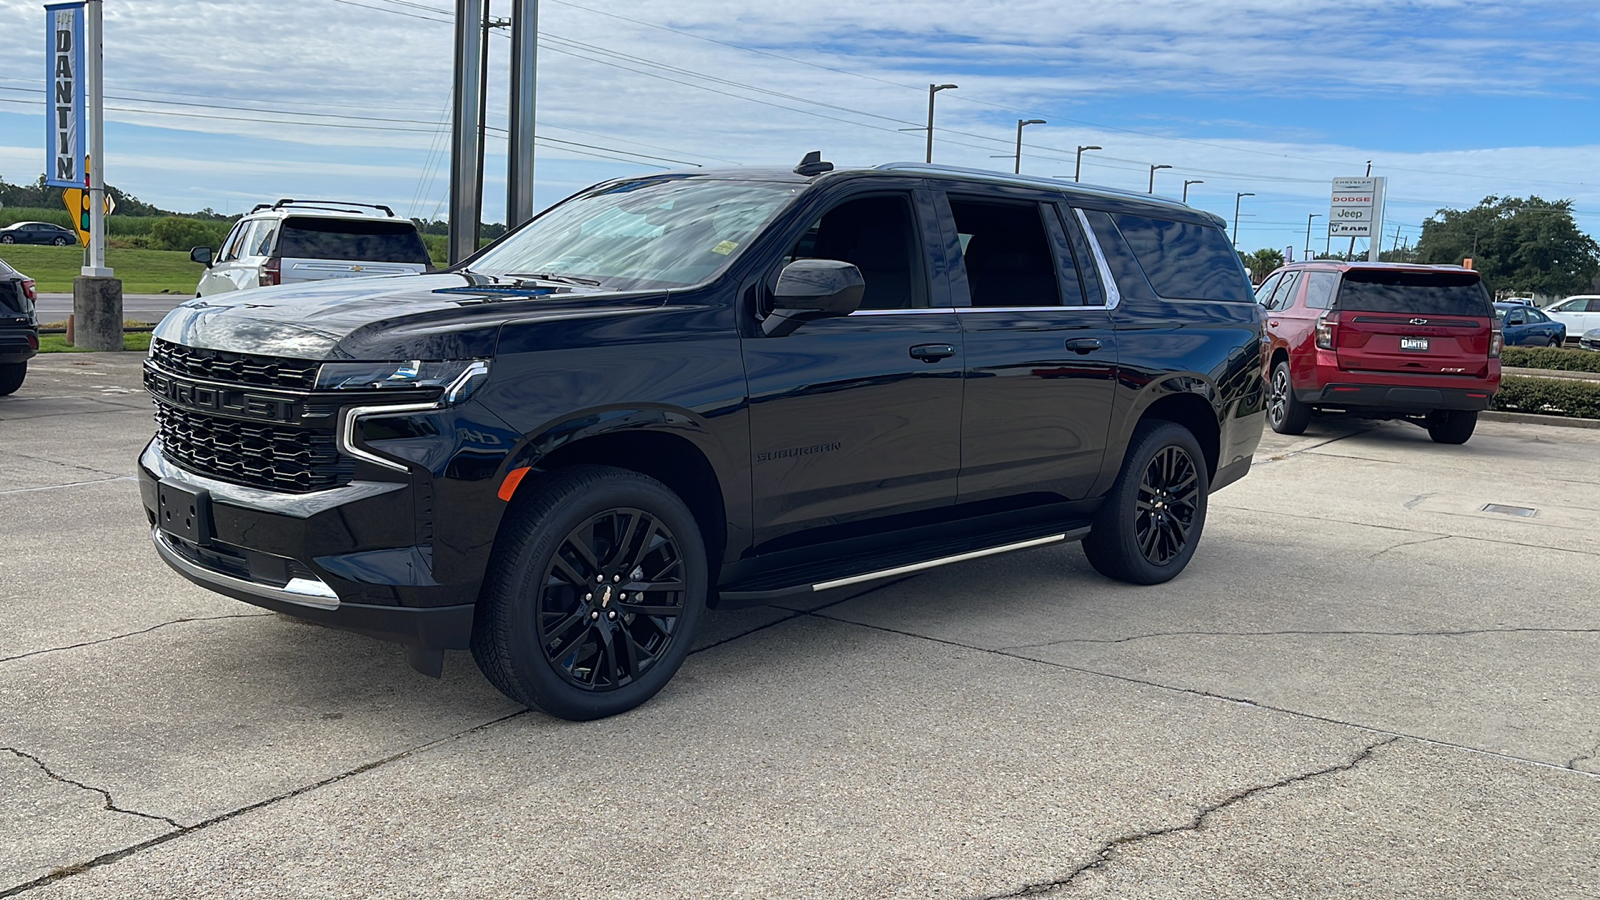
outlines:
M1346 372L1488 376L1494 315L1477 272L1350 269L1334 309Z

